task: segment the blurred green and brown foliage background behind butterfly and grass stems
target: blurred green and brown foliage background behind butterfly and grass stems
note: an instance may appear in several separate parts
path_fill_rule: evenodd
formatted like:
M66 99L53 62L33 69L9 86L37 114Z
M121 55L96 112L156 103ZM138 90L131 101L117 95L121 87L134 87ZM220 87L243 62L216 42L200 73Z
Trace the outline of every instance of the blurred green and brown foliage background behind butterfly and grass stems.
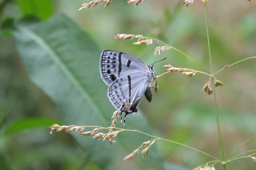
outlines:
M99 73L103 49L130 53L147 65L168 57L154 64L158 75L166 64L204 71L174 50L154 56L156 42L133 45L136 40L114 39L116 34L157 38L210 71L202 1L186 7L179 0L146 0L135 7L112 0L106 8L98 4L78 11L86 2L0 0L0 169L192 169L210 161L194 150L163 141L155 142L145 158L140 154L122 161L151 138L125 132L110 146L78 133L49 133L48 127L55 123L111 125L114 107ZM210 0L207 6L214 72L255 56L256 2ZM54 56L41 40L53 47L56 58L34 61ZM256 134L255 65L256 59L249 59L216 74L223 83L216 88L216 97L226 157ZM139 129L221 159L213 95L202 91L209 78L163 75L152 102L143 98L140 111L127 117L124 127L119 120L116 126ZM237 154L255 147L253 138ZM155 166L148 163L152 160ZM226 167L255 169L255 163L243 158ZM220 169L220 164L215 168Z

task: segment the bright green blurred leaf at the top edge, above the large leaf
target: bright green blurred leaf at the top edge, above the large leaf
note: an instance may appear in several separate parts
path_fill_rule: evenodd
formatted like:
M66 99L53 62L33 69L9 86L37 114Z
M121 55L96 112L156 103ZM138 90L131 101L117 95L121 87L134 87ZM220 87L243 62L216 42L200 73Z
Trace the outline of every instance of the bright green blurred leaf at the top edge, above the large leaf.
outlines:
M53 14L52 0L15 0L24 15L36 15L44 20Z

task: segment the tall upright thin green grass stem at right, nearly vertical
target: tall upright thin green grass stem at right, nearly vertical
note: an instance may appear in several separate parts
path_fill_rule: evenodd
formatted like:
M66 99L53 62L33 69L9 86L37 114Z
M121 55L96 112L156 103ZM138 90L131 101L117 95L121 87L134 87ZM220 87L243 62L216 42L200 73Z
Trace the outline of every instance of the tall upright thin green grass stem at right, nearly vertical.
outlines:
M211 73L212 73L212 87L213 87L213 93L214 93L214 102L215 102L215 110L216 110L216 121L217 121L217 128L218 128L218 134L219 134L219 141L220 141L220 150L222 155L222 161L224 161L224 151L223 151L223 145L222 145L222 138L220 133L220 122L219 122L219 116L218 116L218 107L217 107L217 99L216 99L216 91L214 86L214 75L213 75L213 69L212 69L212 58L211 58L211 52L210 52L210 39L209 39L209 31L208 31L208 18L207 18L207 10L206 10L206 1L204 1L204 10L205 10L205 18L206 18L206 31L207 31L207 40L208 40L208 50L209 50L209 59L210 59L210 67L211 67ZM225 164L222 164L223 169L226 170Z

